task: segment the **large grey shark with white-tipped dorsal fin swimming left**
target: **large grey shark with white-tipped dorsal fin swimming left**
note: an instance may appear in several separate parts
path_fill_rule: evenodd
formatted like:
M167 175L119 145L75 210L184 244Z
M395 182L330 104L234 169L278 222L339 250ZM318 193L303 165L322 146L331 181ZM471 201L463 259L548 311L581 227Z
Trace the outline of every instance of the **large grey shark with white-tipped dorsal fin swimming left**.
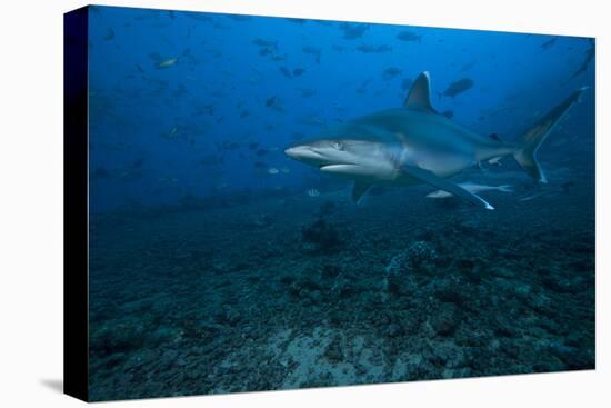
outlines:
M581 100L579 88L530 126L518 140L480 135L439 113L431 103L431 78L419 74L403 105L323 130L314 140L290 146L284 153L323 173L353 180L359 202L377 185L430 185L488 210L494 207L451 180L463 170L511 156L537 182L547 177L537 151L554 126Z

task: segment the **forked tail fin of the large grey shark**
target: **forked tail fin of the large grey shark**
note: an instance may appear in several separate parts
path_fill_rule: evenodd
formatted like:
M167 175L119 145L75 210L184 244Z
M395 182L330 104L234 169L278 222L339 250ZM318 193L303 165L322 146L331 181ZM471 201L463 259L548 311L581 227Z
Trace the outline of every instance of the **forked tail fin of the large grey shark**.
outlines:
M575 90L522 135L521 148L513 153L513 157L527 175L537 181L548 182L543 170L537 161L537 150L553 129L554 125L558 123L564 113L580 100L581 94L587 89L588 87L583 87Z

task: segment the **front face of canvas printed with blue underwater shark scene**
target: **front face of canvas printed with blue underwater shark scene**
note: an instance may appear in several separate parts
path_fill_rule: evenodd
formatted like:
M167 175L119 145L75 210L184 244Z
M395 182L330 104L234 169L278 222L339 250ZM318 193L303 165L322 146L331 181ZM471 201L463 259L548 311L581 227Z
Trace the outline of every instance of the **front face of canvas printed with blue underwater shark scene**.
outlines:
M89 8L92 400L594 369L594 39Z

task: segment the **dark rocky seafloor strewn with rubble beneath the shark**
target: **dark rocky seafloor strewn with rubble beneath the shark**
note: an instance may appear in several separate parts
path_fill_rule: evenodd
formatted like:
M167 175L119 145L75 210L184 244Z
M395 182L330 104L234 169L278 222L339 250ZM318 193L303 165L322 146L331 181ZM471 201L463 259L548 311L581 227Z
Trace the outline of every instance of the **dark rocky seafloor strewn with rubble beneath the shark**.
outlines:
M594 368L593 185L347 195L92 217L91 399Z

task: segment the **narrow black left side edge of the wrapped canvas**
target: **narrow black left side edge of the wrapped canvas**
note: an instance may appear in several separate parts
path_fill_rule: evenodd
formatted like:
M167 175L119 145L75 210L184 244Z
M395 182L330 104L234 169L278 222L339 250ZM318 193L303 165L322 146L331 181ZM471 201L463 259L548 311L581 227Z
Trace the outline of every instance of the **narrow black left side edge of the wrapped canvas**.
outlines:
M88 387L88 8L63 16L63 391Z

